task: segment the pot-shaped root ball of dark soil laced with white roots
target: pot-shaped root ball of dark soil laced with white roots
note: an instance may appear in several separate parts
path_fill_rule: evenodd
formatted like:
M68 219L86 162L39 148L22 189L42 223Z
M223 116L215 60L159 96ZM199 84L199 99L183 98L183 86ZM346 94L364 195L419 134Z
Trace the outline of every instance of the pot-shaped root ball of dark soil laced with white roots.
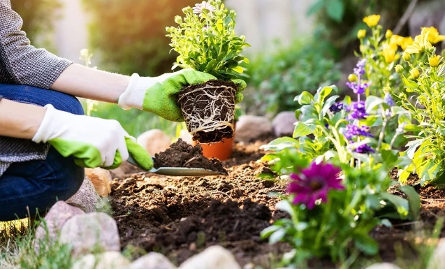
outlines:
M178 103L194 141L217 143L233 137L236 89L230 80L209 80L179 92Z

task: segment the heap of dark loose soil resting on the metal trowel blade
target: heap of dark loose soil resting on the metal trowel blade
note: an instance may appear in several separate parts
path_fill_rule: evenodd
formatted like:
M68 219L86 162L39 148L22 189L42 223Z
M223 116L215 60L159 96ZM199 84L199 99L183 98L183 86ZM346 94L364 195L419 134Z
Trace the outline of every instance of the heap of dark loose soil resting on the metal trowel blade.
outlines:
M203 156L203 147L199 144L192 146L181 138L170 145L164 152L154 154L154 168L159 167L188 167L204 168L228 175L219 159L207 159Z

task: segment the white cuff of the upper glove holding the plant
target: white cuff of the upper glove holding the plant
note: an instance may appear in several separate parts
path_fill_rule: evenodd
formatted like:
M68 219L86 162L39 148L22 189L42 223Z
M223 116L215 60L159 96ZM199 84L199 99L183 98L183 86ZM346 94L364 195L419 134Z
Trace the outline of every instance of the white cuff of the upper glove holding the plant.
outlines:
M126 87L125 92L119 96L117 104L124 110L129 110L130 108L142 110L145 92L154 83L156 83L154 78L141 78L137 73L133 73L129 85Z

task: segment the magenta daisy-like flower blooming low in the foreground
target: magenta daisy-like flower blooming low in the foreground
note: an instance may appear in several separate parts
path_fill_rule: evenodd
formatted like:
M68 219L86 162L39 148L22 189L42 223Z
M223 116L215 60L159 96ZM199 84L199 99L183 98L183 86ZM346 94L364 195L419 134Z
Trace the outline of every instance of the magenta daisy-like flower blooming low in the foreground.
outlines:
M293 204L302 203L312 209L315 201L321 199L326 202L330 189L344 189L342 180L338 177L340 168L330 163L313 162L309 168L305 168L300 174L291 174L289 194L293 194Z

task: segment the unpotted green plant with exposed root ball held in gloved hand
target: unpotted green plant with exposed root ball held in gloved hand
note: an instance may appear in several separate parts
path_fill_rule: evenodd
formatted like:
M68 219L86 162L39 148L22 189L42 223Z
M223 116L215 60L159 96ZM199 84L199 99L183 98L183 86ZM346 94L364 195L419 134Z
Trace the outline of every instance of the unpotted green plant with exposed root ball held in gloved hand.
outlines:
M175 17L177 27L167 27L170 46L179 55L172 69L193 68L214 75L215 80L189 85L178 93L178 103L192 140L217 143L233 138L235 131L235 96L240 78L249 63L240 56L244 36L235 35L235 11L221 0L203 1L194 8L183 8L185 17Z

